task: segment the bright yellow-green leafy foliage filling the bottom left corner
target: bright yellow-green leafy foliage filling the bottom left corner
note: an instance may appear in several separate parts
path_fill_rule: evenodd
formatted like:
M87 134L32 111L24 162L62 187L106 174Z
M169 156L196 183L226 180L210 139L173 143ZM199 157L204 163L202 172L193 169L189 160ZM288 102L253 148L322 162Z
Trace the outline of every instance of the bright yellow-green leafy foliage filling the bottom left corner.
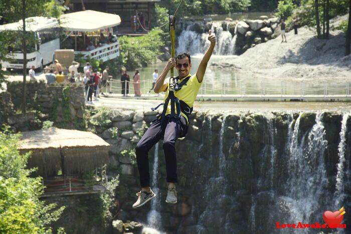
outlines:
M8 129L0 131L0 232L52 233L50 224L60 217L64 207L57 209L56 204L46 205L39 200L41 177L29 177L33 171L26 169L30 154L19 153L20 135Z

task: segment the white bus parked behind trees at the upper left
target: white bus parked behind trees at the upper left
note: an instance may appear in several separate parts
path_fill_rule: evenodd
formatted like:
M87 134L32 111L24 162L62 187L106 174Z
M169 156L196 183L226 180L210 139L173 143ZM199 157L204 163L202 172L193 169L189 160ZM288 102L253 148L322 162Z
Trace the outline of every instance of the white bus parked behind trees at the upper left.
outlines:
M22 30L22 20L14 23L0 25L0 31L18 31ZM26 19L26 31L29 36L33 36L32 41L27 46L27 68L39 68L43 70L44 65L53 62L55 49L60 49L59 22L53 17L29 17ZM1 61L2 67L7 70L11 68L23 68L23 51L20 48L18 38L14 38L17 46L9 47L9 58L11 61Z

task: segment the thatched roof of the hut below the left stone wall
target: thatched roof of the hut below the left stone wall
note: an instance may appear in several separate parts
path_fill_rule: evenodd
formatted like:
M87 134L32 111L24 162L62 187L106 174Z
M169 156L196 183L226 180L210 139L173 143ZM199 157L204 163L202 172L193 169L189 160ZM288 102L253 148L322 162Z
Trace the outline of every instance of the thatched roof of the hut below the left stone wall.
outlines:
M43 177L90 172L108 163L110 144L89 131L50 127L22 132L20 152L32 151L28 167Z

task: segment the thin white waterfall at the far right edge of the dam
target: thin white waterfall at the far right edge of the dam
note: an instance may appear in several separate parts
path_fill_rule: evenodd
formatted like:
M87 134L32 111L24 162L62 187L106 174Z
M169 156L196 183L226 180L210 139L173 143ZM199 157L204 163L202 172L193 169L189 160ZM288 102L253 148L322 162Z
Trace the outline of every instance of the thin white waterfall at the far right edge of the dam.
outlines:
M338 158L337 163L337 173L336 173L336 185L335 185L335 208L339 207L345 194L343 194L343 177L344 177L344 163L345 163L345 146L346 146L346 131L347 131L347 119L349 113L344 113L341 120L341 130L340 130L340 142L338 145ZM340 206L341 207L341 206Z

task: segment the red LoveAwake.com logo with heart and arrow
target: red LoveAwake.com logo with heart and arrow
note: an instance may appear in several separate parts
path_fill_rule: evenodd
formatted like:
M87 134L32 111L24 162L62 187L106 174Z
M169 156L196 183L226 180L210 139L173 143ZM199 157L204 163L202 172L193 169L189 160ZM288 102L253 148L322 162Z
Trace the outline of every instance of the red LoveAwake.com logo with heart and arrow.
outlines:
M339 210L331 212L326 210L323 213L325 223L282 223L276 222L276 228L346 228L346 224L342 223L343 215L346 213L342 206Z

